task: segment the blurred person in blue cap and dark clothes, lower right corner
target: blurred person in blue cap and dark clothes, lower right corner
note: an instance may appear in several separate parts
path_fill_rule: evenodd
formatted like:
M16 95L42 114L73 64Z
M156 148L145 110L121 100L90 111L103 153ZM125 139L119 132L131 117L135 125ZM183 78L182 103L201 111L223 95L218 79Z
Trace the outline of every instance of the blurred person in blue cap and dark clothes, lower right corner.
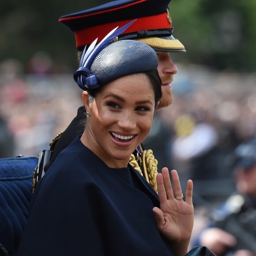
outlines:
M234 158L237 191L213 211L196 243L219 256L252 256L256 255L256 138L239 145Z

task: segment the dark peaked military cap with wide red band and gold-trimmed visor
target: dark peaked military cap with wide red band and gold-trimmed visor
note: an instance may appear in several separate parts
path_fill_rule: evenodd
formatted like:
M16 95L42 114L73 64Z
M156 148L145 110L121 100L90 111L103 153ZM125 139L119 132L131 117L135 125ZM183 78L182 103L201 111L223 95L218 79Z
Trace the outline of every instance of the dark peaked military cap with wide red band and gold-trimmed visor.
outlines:
M169 2L170 0L117 0L61 16L59 21L75 32L78 50L90 45L96 37L101 41L108 31L136 19L119 39L143 41L157 51L185 52L184 45L173 37Z

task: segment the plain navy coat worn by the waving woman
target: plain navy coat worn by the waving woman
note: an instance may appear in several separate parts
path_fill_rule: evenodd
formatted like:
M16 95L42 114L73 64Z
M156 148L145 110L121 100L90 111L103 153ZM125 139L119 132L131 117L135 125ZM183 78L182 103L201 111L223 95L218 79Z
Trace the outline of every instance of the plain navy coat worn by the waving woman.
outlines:
M36 188L18 256L173 255L154 206L135 169L109 168L77 137Z

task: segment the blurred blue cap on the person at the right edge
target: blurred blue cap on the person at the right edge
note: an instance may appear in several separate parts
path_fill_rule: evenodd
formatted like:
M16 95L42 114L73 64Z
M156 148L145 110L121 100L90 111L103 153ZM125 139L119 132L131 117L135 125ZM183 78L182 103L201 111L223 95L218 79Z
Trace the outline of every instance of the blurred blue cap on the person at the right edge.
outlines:
M256 139L242 143L235 149L236 167L249 169L256 165Z

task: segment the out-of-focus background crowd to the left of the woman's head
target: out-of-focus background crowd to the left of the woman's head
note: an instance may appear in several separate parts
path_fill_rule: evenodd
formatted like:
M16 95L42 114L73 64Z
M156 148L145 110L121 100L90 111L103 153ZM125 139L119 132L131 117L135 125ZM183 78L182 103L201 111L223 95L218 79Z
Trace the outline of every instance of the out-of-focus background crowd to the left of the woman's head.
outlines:
M31 58L26 68L13 59L0 62L0 117L13 145L1 150L0 158L38 156L42 149L49 149L53 137L67 127L81 102L72 73L54 72L43 53ZM4 147L9 143L4 142Z

